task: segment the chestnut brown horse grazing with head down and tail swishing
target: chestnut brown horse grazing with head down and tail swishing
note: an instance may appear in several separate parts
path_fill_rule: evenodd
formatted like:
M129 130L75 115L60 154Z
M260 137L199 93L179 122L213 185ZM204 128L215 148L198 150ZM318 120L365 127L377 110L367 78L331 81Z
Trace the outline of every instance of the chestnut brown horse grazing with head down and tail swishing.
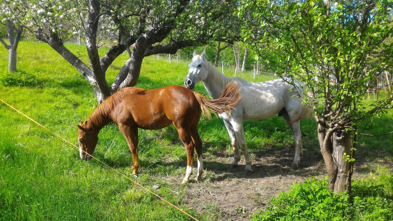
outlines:
M194 149L198 157L198 174L202 177L202 141L198 134L198 122L209 109L215 114L230 110L239 104L237 83L230 83L220 97L210 100L183 86L167 86L152 90L128 87L114 93L90 114L85 122L79 121L78 140L80 157L89 160L98 141L99 131L108 123L115 122L127 140L134 161L132 174L138 173L138 128L156 130L173 123L187 151L187 171L183 183L192 174Z

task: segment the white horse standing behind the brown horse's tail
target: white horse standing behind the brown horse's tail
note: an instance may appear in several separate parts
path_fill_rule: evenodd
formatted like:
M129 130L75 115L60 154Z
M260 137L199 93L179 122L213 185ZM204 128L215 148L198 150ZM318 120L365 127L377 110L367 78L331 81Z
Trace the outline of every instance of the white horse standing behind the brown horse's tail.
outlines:
M298 96L298 93L305 91L304 88L302 90L296 85L298 90L296 92L292 85L282 79L252 83L240 77L225 76L205 59L205 54L206 50L201 55L197 55L194 51L193 59L189 64L189 73L184 79L185 87L193 89L196 83L202 81L212 99L218 98L224 87L231 81L236 81L241 88L242 101L235 109L232 109L231 116L227 113L219 114L231 138L234 153L231 167L239 166L241 158L239 143L246 160L244 173L252 173L252 160L248 155L246 140L244 140L243 121L263 120L278 113L279 116L283 116L285 123L294 134L296 150L292 169L298 169L300 157L303 155L300 119L309 116L312 110L303 105L302 99ZM299 86L304 87L301 84Z

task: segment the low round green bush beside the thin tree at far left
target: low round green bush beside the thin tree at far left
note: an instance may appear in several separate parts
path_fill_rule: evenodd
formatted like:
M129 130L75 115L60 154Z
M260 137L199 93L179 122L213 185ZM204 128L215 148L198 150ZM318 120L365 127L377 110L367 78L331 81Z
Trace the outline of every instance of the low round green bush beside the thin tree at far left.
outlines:
M25 71L8 72L0 74L0 83L4 86L37 86L37 77Z

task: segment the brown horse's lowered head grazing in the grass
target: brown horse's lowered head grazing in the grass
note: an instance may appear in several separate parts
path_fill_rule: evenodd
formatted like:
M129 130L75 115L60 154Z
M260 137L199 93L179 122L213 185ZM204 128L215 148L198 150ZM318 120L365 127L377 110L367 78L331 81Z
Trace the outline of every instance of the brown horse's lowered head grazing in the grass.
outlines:
M79 156L83 160L90 160L98 142L98 133L89 125L88 121L78 125ZM87 153L87 154L86 154Z

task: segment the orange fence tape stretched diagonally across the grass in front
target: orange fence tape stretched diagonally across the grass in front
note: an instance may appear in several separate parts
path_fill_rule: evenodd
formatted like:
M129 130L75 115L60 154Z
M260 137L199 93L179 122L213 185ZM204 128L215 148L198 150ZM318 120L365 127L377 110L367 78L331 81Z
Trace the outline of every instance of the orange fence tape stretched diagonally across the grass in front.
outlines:
M65 142L67 142L68 144L70 144L70 145L74 146L75 148L79 149L79 147L75 146L74 144L72 144L72 143L71 143L71 142L69 142L68 140L66 140L66 139L62 138L62 137L61 137L61 136L59 136L58 134L56 134L56 133L52 132L50 129L48 129L48 128L44 127L44 125L42 125L42 124L38 123L37 121L35 121L35 120L33 120L33 119L29 118L29 116L27 116L26 114L24 114L24 113L20 112L20 110L18 110L18 109L16 109L15 107L13 107L13 106L9 105L8 103L6 103L5 101L3 101L2 99L0 99L0 101L1 101L1 102L3 102L4 104L6 104L8 107L11 107L12 109L14 109L16 112L18 112L18 113L22 114L24 117L28 118L28 119L29 119L29 120L31 120L32 122L36 123L36 124L37 124L37 125L39 125L40 127L44 128L44 129L46 129L47 131L49 131L50 133L54 134L55 136L57 136L57 137L58 137L58 138L60 138L61 140L64 140L64 141L65 141ZM84 152L84 153L86 153L85 151L83 151L83 152ZM184 213L185 215L188 215L188 216L189 216L189 217L191 217L192 219L194 219L194 220L196 220L196 221L199 221L198 219L196 219L196 218L195 218L195 217L193 217L192 215L190 215L190 214L188 214L187 212L185 212L184 210L182 210L182 209L178 208L178 207L177 207L177 206L175 206L174 204L172 204L172 203L169 203L169 201L167 201L166 199L163 199L162 197L160 197L160 196L159 196L159 195L157 195L156 193L154 193L154 192L152 192L151 190L147 189L146 187L142 186L142 185L141 185L141 184L139 184L138 182L136 182L136 181L134 181L134 180L130 179L129 177L127 177L127 176L126 176L126 175L124 175L123 173L120 173L118 170L116 170L116 169L112 168L112 167L111 167L111 166L109 166L108 164L105 164L105 163L104 163L104 162L102 162L101 160L99 160L99 159L97 159L97 158L93 157L92 155L90 155L90 154L88 154L88 153L86 153L86 154L87 154L87 155L89 155L90 157L94 158L95 160L97 160L97 161L101 162L102 164L104 164L104 165L105 165L105 166L107 166L108 168L110 168L110 169L112 169L112 170L116 171L116 173L118 173L118 174L122 175L123 177L125 177L125 178L129 179L129 180L130 180L130 181L132 181L134 184L136 184L136 185L140 186L141 188L145 189L147 192L149 192L149 193L151 193L151 194L155 195L156 197L160 198L160 199L161 199L162 201L164 201L165 203L167 203L167 204L169 204L169 205L173 206L174 208L176 208L176 209L177 209L177 210L179 210L180 212Z

